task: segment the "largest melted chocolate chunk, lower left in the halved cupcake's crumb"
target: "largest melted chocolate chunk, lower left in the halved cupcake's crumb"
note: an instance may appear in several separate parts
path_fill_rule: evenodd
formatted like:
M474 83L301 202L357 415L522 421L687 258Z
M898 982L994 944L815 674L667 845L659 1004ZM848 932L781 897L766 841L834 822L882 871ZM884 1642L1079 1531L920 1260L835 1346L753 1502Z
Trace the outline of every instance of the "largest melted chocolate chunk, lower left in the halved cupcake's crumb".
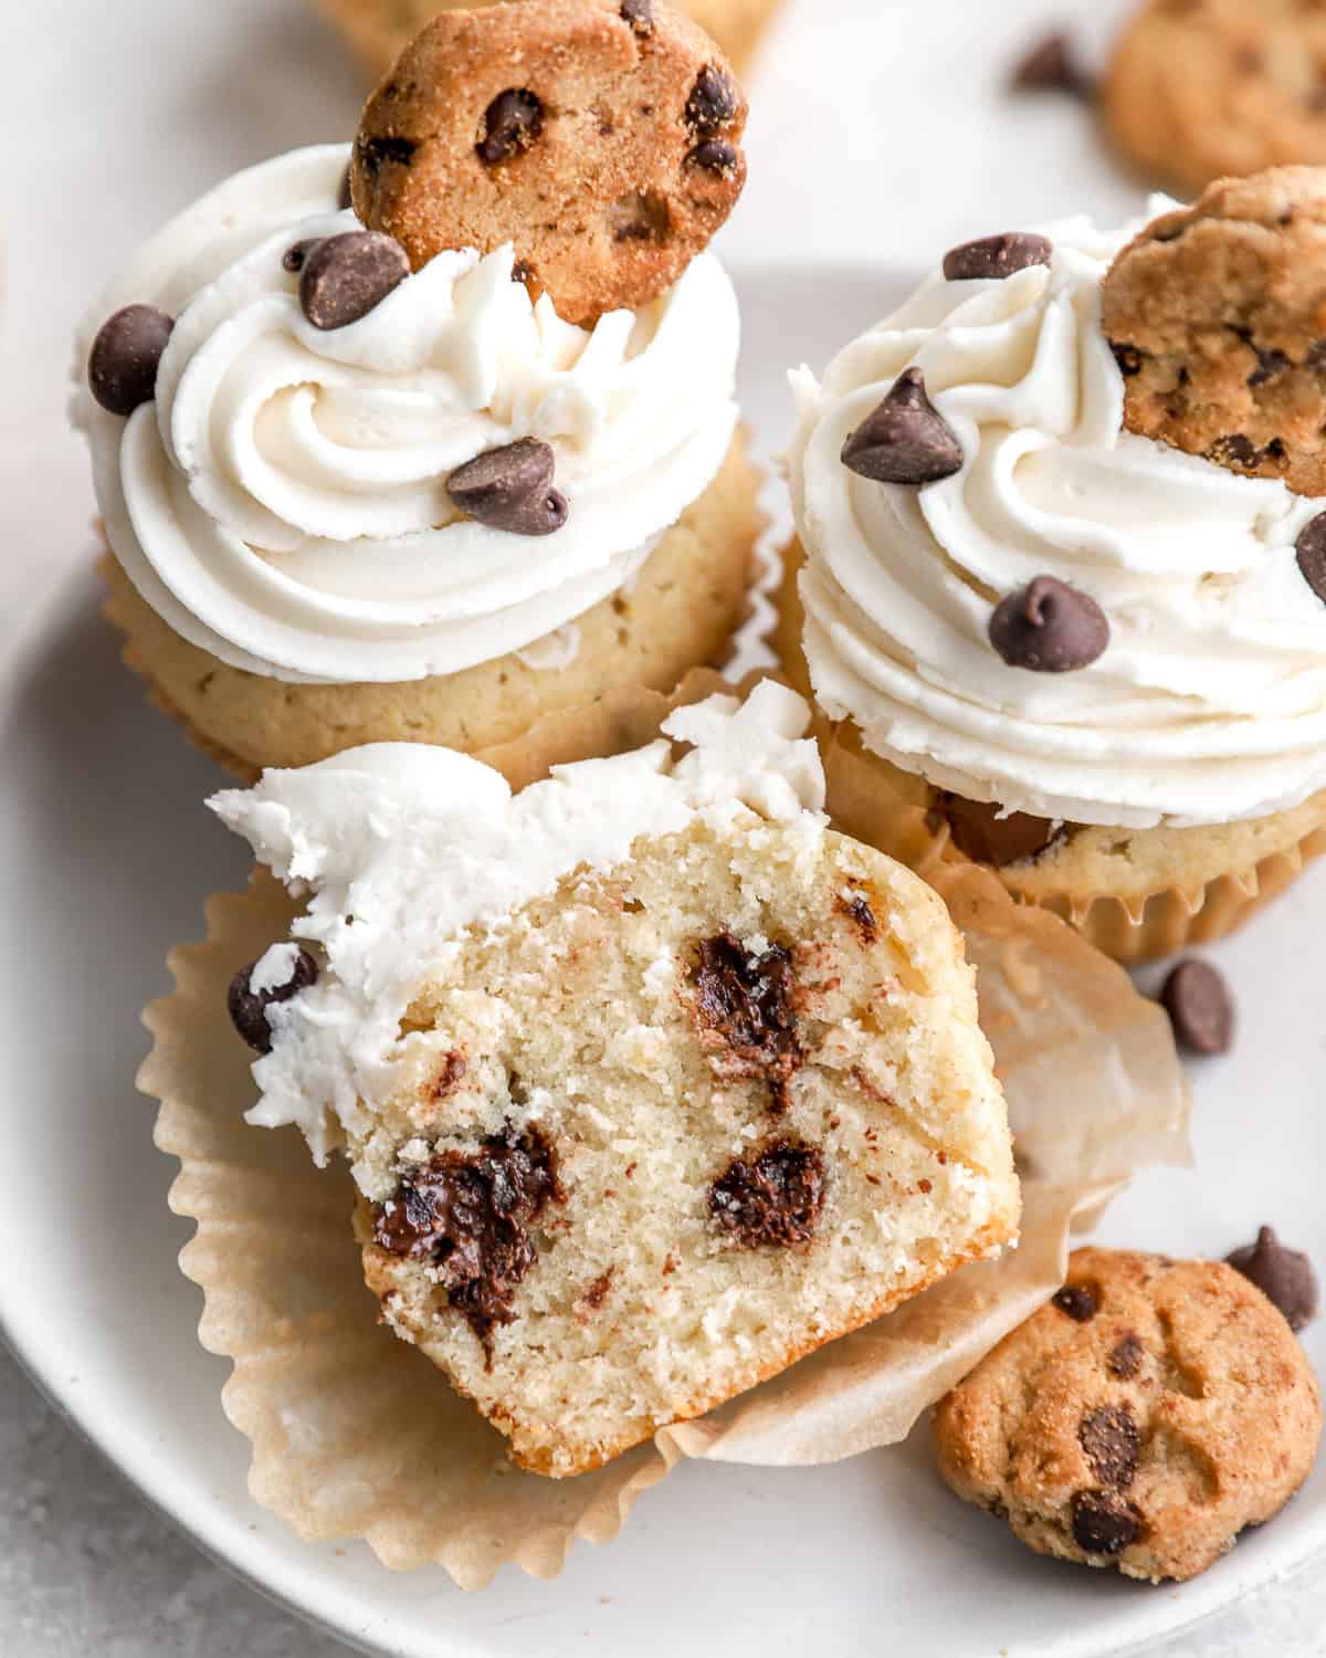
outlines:
M492 1326L514 1321L515 1287L539 1258L530 1229L560 1202L552 1142L507 1124L477 1151L444 1151L408 1176L390 1204L373 1205L373 1242L406 1260L431 1260L448 1300L492 1358Z

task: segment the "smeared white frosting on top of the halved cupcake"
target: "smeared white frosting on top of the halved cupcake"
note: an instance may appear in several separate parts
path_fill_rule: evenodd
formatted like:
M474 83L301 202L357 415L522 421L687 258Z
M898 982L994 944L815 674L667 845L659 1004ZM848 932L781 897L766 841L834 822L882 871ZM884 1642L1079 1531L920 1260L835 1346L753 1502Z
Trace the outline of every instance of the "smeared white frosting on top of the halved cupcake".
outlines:
M824 773L809 721L799 696L766 680L744 703L680 708L646 748L555 768L519 794L464 754L381 743L214 796L222 822L307 900L293 943L237 982L240 1000L262 1001L255 1046L270 1046L249 1121L298 1124L320 1164L346 1134L363 1139L363 1101L436 1068L401 1021L448 953L572 870L623 862L640 836L754 814L794 827L814 854ZM678 758L668 738L690 749ZM675 972L670 957L658 972Z

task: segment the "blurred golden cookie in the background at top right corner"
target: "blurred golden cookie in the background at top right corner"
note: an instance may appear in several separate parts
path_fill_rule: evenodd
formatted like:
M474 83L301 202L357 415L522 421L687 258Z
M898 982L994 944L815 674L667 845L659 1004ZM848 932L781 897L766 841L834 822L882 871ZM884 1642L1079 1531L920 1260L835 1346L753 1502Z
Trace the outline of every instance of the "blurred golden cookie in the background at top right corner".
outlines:
M1149 0L1101 86L1119 148L1185 196L1326 162L1326 10L1316 0Z

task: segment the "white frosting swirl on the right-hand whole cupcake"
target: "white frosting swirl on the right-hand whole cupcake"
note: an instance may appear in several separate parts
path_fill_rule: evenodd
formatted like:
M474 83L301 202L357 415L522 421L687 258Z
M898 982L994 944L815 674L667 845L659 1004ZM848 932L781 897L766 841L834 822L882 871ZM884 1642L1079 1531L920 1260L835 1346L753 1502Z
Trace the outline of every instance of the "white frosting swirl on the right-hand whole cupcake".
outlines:
M806 655L834 718L968 799L1127 827L1232 822L1326 786L1326 605L1295 552L1326 504L1122 429L1101 282L1134 230L1076 219L1049 229L1049 267L935 274L822 385L792 376ZM870 482L842 444L913 363L961 473ZM993 607L1036 575L1109 617L1089 668L1031 673L991 648Z

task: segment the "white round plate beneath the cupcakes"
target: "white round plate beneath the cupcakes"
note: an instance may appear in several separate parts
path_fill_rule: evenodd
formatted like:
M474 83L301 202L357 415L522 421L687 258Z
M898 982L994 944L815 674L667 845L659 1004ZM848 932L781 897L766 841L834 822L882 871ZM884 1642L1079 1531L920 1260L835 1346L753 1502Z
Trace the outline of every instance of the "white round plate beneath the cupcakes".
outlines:
M898 282L820 269L743 288L748 413L786 441L777 365L822 365ZM245 1492L247 1446L219 1401L227 1366L199 1348L199 1293L176 1270L187 1234L166 1209L174 1166L152 1151L152 1108L133 1088L138 1013L166 985L166 948L199 933L202 895L240 882L245 859L202 811L217 773L119 667L91 575L10 658L0 778L0 1328L151 1500L312 1620L375 1653L429 1658L850 1658L877 1653L883 1631L908 1658L1094 1658L1326 1547L1319 1469L1280 1520L1180 1590L1039 1560L943 1491L923 1433L829 1469L685 1466L618 1542L577 1547L555 1583L507 1568L462 1595L441 1570L391 1577L363 1545L298 1542ZM1232 1059L1195 1071L1198 1171L1140 1180L1107 1240L1223 1255L1271 1220L1326 1265L1324 940L1326 867L1215 952L1241 1030ZM1308 1348L1326 1368L1326 1323Z

